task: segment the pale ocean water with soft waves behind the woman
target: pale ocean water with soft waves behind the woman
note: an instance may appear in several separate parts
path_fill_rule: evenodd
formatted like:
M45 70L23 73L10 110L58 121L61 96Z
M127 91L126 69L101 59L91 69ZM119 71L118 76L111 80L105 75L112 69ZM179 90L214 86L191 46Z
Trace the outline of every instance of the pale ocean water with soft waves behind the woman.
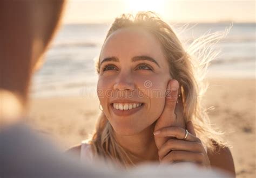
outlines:
M227 37L216 49L219 56L208 68L207 77L255 78L255 24L184 24L174 25L181 41L189 41L207 32L224 31ZM31 94L45 96L96 95L95 59L99 55L109 25L64 25L45 55L45 63L33 77Z

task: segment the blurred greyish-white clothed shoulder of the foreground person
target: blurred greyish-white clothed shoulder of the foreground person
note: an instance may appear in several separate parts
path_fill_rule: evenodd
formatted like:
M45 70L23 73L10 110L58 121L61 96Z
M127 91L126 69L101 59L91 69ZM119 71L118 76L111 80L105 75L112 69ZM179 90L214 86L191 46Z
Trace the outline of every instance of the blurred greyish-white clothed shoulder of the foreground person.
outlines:
M0 144L4 163L0 176L4 177L230 177L189 163L141 165L130 170L109 169L103 163L81 165L23 123L1 130Z

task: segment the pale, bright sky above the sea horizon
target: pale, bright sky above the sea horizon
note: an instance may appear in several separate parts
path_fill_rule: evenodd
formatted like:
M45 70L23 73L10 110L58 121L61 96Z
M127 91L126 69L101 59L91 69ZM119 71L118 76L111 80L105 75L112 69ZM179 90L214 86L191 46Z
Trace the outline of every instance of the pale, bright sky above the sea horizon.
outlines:
M253 0L69 0L64 23L111 23L122 13L152 10L181 23L255 23Z

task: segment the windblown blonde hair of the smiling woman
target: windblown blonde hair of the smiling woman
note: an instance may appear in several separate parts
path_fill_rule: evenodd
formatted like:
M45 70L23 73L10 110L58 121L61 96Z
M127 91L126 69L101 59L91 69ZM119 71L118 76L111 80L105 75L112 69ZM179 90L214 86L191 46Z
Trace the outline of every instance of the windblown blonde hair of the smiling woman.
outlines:
M227 30L205 34L194 40L185 51L171 27L155 13L147 11L139 12L135 17L128 14L116 18L106 35L106 39L113 32L125 27L140 27L157 37L169 63L170 74L181 86L185 121L192 120L197 136L208 151L214 151L214 143L225 145L221 133L215 131L210 124L206 109L201 104L201 96L207 89L207 83L204 82L206 69L210 61L218 54L213 50L214 45L227 34ZM99 61L96 62L96 69L99 73ZM110 158L125 167L134 165L130 158L133 155L117 143L112 126L103 112L99 117L96 132L90 144L95 155Z

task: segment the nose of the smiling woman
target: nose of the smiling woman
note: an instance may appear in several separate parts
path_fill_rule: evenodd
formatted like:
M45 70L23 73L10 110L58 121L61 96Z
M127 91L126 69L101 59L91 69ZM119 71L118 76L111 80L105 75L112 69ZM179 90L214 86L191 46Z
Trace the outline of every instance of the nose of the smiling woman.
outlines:
M114 90L131 90L133 91L135 89L134 81L129 74L119 74L119 76L116 79L116 82L113 86Z

